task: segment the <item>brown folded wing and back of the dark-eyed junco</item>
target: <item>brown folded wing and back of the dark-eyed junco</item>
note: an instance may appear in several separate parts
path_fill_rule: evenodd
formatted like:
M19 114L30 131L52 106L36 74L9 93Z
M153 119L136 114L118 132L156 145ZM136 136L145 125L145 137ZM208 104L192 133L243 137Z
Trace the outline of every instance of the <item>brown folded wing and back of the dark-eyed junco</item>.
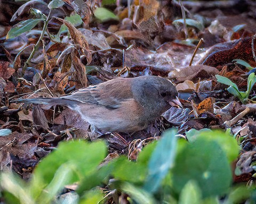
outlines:
M115 109L121 105L122 101L132 99L131 83L129 82L130 79L128 78L117 78L77 90L73 94L62 96L61 98Z

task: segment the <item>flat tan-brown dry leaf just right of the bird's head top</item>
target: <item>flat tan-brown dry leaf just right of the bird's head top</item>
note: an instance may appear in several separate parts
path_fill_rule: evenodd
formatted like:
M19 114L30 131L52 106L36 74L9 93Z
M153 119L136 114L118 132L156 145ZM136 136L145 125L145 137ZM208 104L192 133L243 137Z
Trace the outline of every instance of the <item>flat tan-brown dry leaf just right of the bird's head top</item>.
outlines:
M208 79L218 73L219 71L215 67L199 64L195 66L181 67L179 70L173 70L169 73L168 77L170 79L177 79L178 82L186 80L197 81L198 78Z

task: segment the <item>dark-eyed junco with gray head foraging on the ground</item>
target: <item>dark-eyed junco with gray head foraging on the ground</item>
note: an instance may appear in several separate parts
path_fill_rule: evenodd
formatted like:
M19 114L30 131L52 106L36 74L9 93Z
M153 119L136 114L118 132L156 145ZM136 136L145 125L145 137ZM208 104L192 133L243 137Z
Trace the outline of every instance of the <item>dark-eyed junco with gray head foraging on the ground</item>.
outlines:
M62 105L77 111L101 132L135 132L145 129L171 106L179 105L177 90L162 77L117 78L54 98L15 102Z

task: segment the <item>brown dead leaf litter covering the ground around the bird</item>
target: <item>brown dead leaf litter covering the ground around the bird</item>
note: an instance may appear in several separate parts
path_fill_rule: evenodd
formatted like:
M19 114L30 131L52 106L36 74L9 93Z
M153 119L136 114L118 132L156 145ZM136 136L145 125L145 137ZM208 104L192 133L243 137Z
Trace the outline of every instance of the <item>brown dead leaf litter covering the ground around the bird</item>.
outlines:
M137 159L147 142L173 126L183 137L191 129L231 128L243 149L235 181L251 180L256 155L255 89L252 88L249 104L243 105L227 91L226 85L216 80L215 74L229 78L239 90L246 90L250 71L234 60L256 66L256 22L255 16L252 18L255 5L239 14L236 5L230 5L233 10L228 14L220 6L219 15L214 5L215 10L207 12L211 7L207 3L184 2L187 18L193 18L187 19L184 26L180 4L174 2L142 1L140 7L134 2L123 10L117 3L111 15L106 12L116 18L97 15L95 5L89 1L65 2L51 11L52 18L42 38L42 23L19 36L13 32L14 38L7 39L7 32L1 36L0 129L12 131L0 137L1 170L13 169L28 179L39 160L62 140L105 139L109 147L104 162L107 163L122 154ZM45 2L19 3L17 10L10 10L12 19L3 22L3 27L10 32L10 20L16 24L31 19L31 7L49 15ZM74 14L81 16L78 26L64 19ZM67 29L59 32L62 24ZM38 49L22 73L40 38ZM189 65L201 38L203 44ZM150 74L172 80L183 109L172 107L147 129L132 134L93 135L90 125L66 107L45 109L10 103L18 98L69 94L117 76ZM249 176L239 177L242 174Z

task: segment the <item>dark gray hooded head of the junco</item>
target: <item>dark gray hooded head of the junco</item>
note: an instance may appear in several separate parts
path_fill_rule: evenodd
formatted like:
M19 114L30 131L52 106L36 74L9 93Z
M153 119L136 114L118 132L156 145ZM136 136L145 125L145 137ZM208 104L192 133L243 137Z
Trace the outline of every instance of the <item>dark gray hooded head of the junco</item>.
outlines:
M134 98L148 111L155 110L161 115L171 107L170 103L178 96L174 85L167 79L156 76L134 78L132 89ZM154 107L154 108L153 108ZM157 107L157 108L156 108Z

